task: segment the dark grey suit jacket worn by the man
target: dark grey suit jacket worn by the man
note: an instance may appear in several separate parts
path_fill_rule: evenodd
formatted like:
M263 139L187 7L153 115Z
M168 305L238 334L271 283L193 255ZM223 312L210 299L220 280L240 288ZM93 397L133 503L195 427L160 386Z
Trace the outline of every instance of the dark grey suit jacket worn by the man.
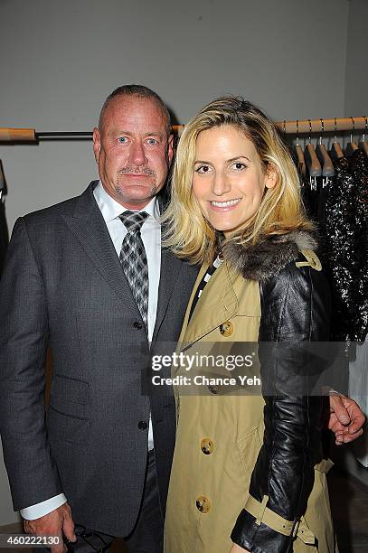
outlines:
M65 492L74 520L125 536L142 497L150 410L165 511L175 401L147 384L146 331L94 185L15 223L0 282L0 430L14 510ZM196 273L163 249L151 354L177 340Z

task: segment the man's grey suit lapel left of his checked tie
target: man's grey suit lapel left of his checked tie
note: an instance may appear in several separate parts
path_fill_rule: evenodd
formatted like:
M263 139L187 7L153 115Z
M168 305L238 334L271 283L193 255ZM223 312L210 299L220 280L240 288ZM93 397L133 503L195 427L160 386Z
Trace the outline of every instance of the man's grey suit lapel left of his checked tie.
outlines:
M80 241L81 247L118 298L127 304L127 297L131 296L132 303L136 305L110 239L109 230L93 196L96 183L97 181L90 183L87 190L77 198L74 212L63 213L63 217L71 232ZM140 316L138 309L137 316Z

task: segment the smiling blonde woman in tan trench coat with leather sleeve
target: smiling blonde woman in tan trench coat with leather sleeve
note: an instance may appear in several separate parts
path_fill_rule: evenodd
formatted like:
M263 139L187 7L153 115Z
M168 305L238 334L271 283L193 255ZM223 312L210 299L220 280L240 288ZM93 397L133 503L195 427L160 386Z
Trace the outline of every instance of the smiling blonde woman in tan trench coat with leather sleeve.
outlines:
M337 551L322 398L299 381L300 371L313 375L298 344L328 338L328 289L294 164L258 108L223 97L193 117L165 220L175 253L203 263L184 319L185 354L259 342L263 380L263 397L240 386L175 389L165 552ZM269 342L266 352L260 342Z

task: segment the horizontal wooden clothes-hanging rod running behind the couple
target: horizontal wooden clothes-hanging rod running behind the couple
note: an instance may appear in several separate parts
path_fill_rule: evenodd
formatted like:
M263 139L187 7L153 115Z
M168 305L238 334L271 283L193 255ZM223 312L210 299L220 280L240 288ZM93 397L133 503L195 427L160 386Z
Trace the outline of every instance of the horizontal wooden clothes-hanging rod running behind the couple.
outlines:
M368 134L367 117L344 117L334 119L300 119L296 121L278 121L275 123L281 133L287 135L365 131ZM175 125L174 131L180 136L184 125ZM90 140L91 132L36 132L34 128L1 128L0 143L30 144L39 140Z

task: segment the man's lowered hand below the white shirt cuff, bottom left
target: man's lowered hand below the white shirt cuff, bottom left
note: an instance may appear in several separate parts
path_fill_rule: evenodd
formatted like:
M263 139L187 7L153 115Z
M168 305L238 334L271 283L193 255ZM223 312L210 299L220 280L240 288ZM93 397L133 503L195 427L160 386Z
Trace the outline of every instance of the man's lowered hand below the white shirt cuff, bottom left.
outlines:
M62 534L70 541L77 539L68 503L64 503L39 519L24 520L24 531L35 536L58 536L59 545L52 546L52 553L65 553L66 547L62 541Z

